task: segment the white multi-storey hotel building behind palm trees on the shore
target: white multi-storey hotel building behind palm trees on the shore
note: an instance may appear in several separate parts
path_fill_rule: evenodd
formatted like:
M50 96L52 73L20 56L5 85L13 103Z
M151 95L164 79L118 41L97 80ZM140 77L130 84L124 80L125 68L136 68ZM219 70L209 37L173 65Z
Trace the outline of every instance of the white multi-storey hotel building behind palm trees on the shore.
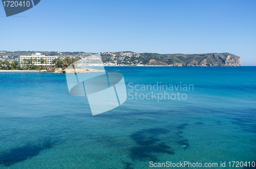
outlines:
M44 59L46 60L48 63L47 64L41 64L39 59ZM33 62L34 65L38 65L38 66L52 66L54 65L54 63L52 62L54 59L57 59L58 56L49 56L47 57L46 55L42 55L41 53L35 53L35 54L32 54L31 56L19 56L18 57L18 64L22 64L23 60L24 59L37 59L38 61L36 62Z

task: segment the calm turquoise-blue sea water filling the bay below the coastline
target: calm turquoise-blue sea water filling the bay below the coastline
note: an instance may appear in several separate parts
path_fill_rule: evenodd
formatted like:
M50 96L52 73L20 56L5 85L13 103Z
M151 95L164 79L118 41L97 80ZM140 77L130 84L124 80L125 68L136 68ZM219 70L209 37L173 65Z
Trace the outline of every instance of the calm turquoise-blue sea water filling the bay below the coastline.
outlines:
M256 67L105 69L123 74L129 95L96 116L87 97L69 94L65 74L0 73L0 168L256 160ZM194 90L135 90L160 82ZM157 100L152 92L186 99Z

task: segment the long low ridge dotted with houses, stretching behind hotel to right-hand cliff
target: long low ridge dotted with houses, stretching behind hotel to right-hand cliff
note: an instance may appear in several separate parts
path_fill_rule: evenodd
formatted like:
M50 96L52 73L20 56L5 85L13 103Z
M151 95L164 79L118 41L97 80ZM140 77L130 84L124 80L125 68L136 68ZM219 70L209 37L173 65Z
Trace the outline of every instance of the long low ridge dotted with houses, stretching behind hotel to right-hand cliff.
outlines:
M56 51L0 51L0 60L17 60L18 55L40 52L58 55L60 59L82 59L93 53ZM132 51L100 52L103 63L108 66L241 66L241 58L231 53L159 54Z

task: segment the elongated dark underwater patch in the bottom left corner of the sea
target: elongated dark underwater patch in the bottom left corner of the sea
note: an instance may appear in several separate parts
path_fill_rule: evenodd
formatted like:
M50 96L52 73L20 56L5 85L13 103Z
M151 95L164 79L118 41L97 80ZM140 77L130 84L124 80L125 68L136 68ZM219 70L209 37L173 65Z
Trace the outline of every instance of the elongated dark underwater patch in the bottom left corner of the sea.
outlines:
M46 141L42 144L26 144L23 147L14 148L10 151L0 152L0 165L11 166L18 162L23 162L27 159L39 155L42 150L51 149L56 142Z

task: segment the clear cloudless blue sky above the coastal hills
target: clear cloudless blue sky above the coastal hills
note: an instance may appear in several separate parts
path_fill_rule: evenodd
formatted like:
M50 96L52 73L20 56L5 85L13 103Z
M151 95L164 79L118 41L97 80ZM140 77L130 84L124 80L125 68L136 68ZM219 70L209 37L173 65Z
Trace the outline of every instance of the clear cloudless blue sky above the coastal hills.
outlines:
M0 50L230 52L256 66L256 1L41 0L6 17Z

